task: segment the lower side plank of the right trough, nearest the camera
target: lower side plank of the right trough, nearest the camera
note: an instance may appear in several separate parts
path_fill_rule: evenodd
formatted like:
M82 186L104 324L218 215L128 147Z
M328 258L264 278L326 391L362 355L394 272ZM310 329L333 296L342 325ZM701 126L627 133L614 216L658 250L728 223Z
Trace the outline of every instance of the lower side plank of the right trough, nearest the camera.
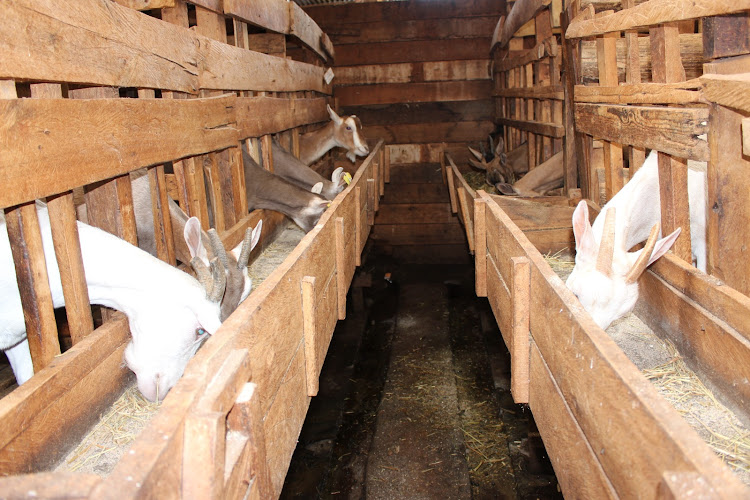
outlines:
M563 495L618 498L586 440L539 348L531 343L529 407L549 453Z

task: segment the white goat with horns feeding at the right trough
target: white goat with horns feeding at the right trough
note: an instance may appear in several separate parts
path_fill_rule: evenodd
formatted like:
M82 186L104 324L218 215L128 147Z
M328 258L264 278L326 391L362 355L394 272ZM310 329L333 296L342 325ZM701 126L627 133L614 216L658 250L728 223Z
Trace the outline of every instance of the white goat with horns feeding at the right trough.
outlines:
M705 165L705 164L704 164ZM690 162L697 167L697 162ZM689 168L690 235L696 266L706 270L706 174ZM661 202L656 152L604 207L589 225L588 206L581 201L573 212L576 259L566 285L578 296L594 321L606 329L633 310L638 300L638 278L669 250L680 234L677 228L660 234ZM647 240L645 247L629 252Z

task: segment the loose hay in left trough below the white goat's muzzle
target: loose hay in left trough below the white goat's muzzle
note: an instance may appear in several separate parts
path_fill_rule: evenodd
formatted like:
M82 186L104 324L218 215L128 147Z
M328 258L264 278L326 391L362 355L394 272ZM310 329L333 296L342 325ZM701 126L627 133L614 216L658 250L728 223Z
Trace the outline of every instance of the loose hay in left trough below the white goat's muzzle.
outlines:
M58 465L57 471L107 476L160 406L144 399L138 387L131 385Z

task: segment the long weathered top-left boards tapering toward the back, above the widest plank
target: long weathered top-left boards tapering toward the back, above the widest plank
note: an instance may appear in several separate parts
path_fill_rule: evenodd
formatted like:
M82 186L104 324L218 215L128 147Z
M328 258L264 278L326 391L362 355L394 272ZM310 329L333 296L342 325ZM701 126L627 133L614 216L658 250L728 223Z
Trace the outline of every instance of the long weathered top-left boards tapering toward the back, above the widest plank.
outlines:
M225 43L112 2L19 0L0 6L0 77L197 93L317 90L325 68ZM133 31L140 36L131 36ZM64 33L60 36L59 33ZM49 50L49 40L54 50ZM151 40L159 40L153 44ZM248 72L244 68L256 67Z

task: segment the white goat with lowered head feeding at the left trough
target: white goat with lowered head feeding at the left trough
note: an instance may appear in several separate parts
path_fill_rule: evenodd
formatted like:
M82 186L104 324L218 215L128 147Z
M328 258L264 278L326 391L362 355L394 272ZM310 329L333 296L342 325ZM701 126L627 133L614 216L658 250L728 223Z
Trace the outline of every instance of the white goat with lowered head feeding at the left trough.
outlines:
M52 301L60 307L65 300L46 206L37 202L37 213ZM221 325L219 301L225 273L214 260L212 280L208 269L194 259L202 285L98 228L78 222L78 233L90 302L127 315L132 340L125 349L125 363L135 372L146 398L163 398L207 337L204 333L213 333ZM4 217L0 219L0 294L0 349L22 384L34 369Z

